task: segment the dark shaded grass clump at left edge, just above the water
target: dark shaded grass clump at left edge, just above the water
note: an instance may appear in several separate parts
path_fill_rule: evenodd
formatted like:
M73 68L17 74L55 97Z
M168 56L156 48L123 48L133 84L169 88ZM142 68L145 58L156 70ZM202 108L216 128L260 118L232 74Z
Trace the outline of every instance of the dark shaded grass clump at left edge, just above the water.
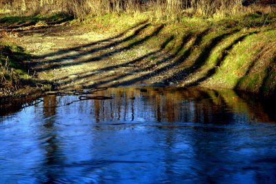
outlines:
M50 89L50 85L36 81L34 73L23 61L32 56L14 43L0 41L0 101L7 97L23 97Z

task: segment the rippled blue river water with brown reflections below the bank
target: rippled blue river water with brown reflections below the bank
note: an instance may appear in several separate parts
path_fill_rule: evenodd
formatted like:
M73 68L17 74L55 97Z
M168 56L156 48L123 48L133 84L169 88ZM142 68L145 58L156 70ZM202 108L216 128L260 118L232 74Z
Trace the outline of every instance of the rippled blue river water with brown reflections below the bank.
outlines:
M272 104L228 90L86 93L1 110L0 183L276 183Z

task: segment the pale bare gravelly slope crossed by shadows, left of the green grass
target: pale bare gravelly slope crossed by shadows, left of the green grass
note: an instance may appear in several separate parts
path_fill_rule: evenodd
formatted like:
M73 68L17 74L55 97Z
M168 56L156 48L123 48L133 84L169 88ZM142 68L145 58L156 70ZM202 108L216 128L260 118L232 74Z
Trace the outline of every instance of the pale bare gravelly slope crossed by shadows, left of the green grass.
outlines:
M164 80L175 72L166 69L169 54L159 46L149 49L142 44L162 28L142 22L124 32L96 34L60 26L21 32L17 44L34 55L27 64L38 79L54 83L59 90L174 85ZM138 37L145 29L152 32Z

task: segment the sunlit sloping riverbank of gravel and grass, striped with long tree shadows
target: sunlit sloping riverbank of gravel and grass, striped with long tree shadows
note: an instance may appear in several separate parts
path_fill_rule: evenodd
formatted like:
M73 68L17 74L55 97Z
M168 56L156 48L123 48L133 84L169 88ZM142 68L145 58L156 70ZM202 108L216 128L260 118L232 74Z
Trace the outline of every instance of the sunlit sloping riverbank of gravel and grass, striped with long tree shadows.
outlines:
M276 15L177 22L108 14L74 26L17 28L39 81L57 90L204 86L275 96Z

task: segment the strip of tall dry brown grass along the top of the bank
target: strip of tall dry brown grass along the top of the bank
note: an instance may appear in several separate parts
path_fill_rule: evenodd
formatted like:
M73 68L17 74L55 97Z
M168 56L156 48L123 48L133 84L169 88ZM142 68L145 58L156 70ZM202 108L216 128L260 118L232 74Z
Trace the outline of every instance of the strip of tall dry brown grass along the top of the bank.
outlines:
M87 14L97 16L112 12L148 12L157 19L177 19L183 16L225 17L255 11L276 12L275 6L264 4L244 7L241 0L26 0L26 8L21 1L13 0L12 3L0 3L0 9L21 14L70 12L79 19L85 19Z

